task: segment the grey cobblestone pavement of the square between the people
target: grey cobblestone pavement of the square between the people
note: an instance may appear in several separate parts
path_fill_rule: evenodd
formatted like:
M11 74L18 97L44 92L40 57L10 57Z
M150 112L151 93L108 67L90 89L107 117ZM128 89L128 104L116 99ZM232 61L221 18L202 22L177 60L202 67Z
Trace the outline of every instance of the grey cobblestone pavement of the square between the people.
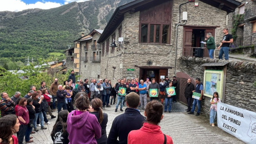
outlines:
M120 106L117 113L115 113L115 106L113 105L103 110L103 113L108 114L107 134L114 118L124 113L119 108ZM123 110L125 108L123 107ZM186 106L180 102L173 103L171 113L164 113L164 118L159 124L163 133L170 135L174 143L244 143L233 135L222 131L217 125L212 127L209 124L209 119L204 116L188 115L185 109ZM141 114L143 115L143 111ZM55 111L53 115L57 116L57 112ZM49 115L47 117L49 117L51 124L45 124L46 130L39 130L35 134L31 134L34 137L33 143L52 143L50 133L57 118L51 119Z

